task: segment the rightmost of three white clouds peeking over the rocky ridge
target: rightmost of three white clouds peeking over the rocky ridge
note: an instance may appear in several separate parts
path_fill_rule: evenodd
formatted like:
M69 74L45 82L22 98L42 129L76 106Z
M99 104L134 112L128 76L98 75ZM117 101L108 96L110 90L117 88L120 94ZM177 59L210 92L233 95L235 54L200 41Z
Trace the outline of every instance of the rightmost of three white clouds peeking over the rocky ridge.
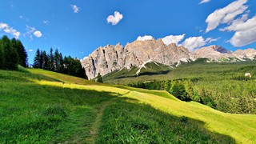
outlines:
M211 42L215 42L218 41L219 38L202 38L202 36L200 37L190 37L190 38L186 38L186 40L184 42L182 42L182 46L185 46L188 50L190 51L194 51L197 50L199 48L201 48L202 46L206 46L206 44L209 44Z

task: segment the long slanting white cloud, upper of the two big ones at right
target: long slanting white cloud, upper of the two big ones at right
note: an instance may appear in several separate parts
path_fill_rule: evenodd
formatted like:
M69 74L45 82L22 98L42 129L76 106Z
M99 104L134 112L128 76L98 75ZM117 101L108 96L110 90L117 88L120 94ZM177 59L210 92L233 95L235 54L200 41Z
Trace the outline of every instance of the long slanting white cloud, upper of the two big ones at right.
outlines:
M229 24L234 21L234 18L247 10L248 6L244 5L246 2L247 0L237 0L222 9L215 10L206 18L208 24L206 32L214 30L219 24Z

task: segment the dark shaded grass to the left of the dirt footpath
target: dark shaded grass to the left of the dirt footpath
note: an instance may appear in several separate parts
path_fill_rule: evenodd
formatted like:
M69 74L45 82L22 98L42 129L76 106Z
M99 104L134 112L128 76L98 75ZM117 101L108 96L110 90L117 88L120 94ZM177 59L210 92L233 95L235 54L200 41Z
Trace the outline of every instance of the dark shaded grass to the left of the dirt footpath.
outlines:
M31 82L9 85L1 95L0 143L82 142L90 136L97 107L118 95Z

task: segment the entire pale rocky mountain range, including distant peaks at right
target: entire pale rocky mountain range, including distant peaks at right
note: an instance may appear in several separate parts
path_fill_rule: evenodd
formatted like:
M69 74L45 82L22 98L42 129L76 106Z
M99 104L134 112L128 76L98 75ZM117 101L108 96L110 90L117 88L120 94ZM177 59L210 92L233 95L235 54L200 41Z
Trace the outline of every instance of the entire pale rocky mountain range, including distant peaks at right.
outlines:
M107 45L94 50L89 57L82 60L88 78L94 78L98 73L105 75L116 70L133 67L140 69L146 62L156 62L164 66L178 66L182 62L191 62L198 58L208 58L209 62L236 62L254 59L256 50L236 50L232 52L222 46L207 46L190 52L184 46L174 43L166 45L162 39L134 41L125 47L118 43L116 46ZM136 71L135 74L139 74Z

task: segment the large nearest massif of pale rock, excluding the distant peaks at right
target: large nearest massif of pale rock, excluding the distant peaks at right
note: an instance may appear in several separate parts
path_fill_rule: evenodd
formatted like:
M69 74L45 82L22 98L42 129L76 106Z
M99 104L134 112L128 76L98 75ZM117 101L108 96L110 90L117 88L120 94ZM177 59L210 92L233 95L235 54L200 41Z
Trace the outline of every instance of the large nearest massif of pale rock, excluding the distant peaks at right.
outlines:
M125 47L119 43L116 46L99 47L82 61L82 66L88 78L94 78L98 73L104 75L122 68L130 69L149 60L171 66L180 60L193 59L191 55L183 46L166 46L161 39L151 39L127 43Z

